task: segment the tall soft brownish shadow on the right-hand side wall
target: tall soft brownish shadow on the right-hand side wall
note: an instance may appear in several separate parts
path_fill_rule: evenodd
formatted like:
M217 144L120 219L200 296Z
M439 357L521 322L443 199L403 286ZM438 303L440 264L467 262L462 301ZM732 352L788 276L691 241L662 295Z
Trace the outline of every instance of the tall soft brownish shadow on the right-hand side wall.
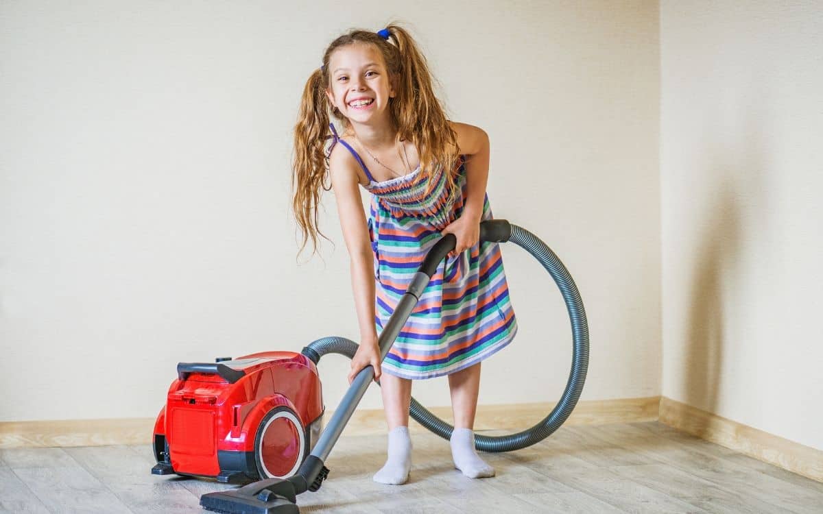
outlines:
M686 404L714 414L718 412L723 387L724 359L734 359L728 352L729 329L734 329L732 333L742 332L734 326L741 313L730 307L745 290L745 281L751 280L740 269L745 238L754 235L746 234L746 230L768 222L763 189L764 138L751 130L749 123L735 125L746 129L745 132L725 132L728 141L715 141L714 148L709 150L708 178L716 184L714 189L685 192L709 194L710 199L705 202L708 212L694 221L702 224L702 234L697 239L699 248L693 250L683 391ZM723 136L717 127L707 127L706 133ZM742 141L734 141L736 137L742 137ZM756 216L751 215L752 207L756 207ZM736 313L729 313L730 310ZM734 318L730 317L732 314Z

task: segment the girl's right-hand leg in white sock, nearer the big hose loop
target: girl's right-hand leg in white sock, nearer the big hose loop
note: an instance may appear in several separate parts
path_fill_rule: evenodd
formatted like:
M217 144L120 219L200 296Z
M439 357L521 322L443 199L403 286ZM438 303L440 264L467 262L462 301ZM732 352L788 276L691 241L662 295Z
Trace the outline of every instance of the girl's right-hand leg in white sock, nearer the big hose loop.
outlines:
M450 445L454 467L471 479L494 476L495 470L486 464L474 449L474 416L477 413L477 393L480 391L480 363L449 375L452 396L454 431Z

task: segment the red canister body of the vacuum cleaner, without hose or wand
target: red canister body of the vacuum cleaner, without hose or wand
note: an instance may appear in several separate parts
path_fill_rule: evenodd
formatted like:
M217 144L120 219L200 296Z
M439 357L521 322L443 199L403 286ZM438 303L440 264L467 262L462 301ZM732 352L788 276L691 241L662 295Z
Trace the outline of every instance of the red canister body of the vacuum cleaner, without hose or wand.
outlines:
M154 428L154 475L244 484L294 475L317 442L323 396L303 354L180 363Z

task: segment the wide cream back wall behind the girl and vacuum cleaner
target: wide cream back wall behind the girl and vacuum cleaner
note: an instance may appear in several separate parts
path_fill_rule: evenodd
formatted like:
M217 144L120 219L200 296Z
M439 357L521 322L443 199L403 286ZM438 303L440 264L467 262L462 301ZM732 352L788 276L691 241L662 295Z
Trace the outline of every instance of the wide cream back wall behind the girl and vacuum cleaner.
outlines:
M153 416L179 361L356 336L332 195L336 246L295 261L291 127L325 45L393 17L452 117L490 133L495 215L578 280L583 398L658 395L657 3L295 5L0 4L0 421ZM521 328L481 403L556 400L560 294L518 248L504 260ZM347 366L321 364L330 408ZM415 391L449 404L443 379Z

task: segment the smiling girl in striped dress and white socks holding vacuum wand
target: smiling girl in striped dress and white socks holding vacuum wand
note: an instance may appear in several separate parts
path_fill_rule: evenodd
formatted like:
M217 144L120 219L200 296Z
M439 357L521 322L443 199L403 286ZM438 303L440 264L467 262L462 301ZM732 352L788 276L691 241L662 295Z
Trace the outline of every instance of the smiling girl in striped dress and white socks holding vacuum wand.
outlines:
M329 123L329 112L341 132ZM517 324L500 248L478 243L481 220L491 219L488 172L486 132L445 118L425 58L406 30L354 30L332 41L306 83L295 126L294 210L301 250L311 239L316 251L323 235L320 189L331 179L360 326L348 378L374 368L389 429L388 459L374 475L377 482L407 481L412 379L442 375L449 376L455 467L471 478L495 474L474 449L480 363L509 344ZM371 193L368 220L358 186ZM444 234L454 234L457 246L381 366L379 331Z

